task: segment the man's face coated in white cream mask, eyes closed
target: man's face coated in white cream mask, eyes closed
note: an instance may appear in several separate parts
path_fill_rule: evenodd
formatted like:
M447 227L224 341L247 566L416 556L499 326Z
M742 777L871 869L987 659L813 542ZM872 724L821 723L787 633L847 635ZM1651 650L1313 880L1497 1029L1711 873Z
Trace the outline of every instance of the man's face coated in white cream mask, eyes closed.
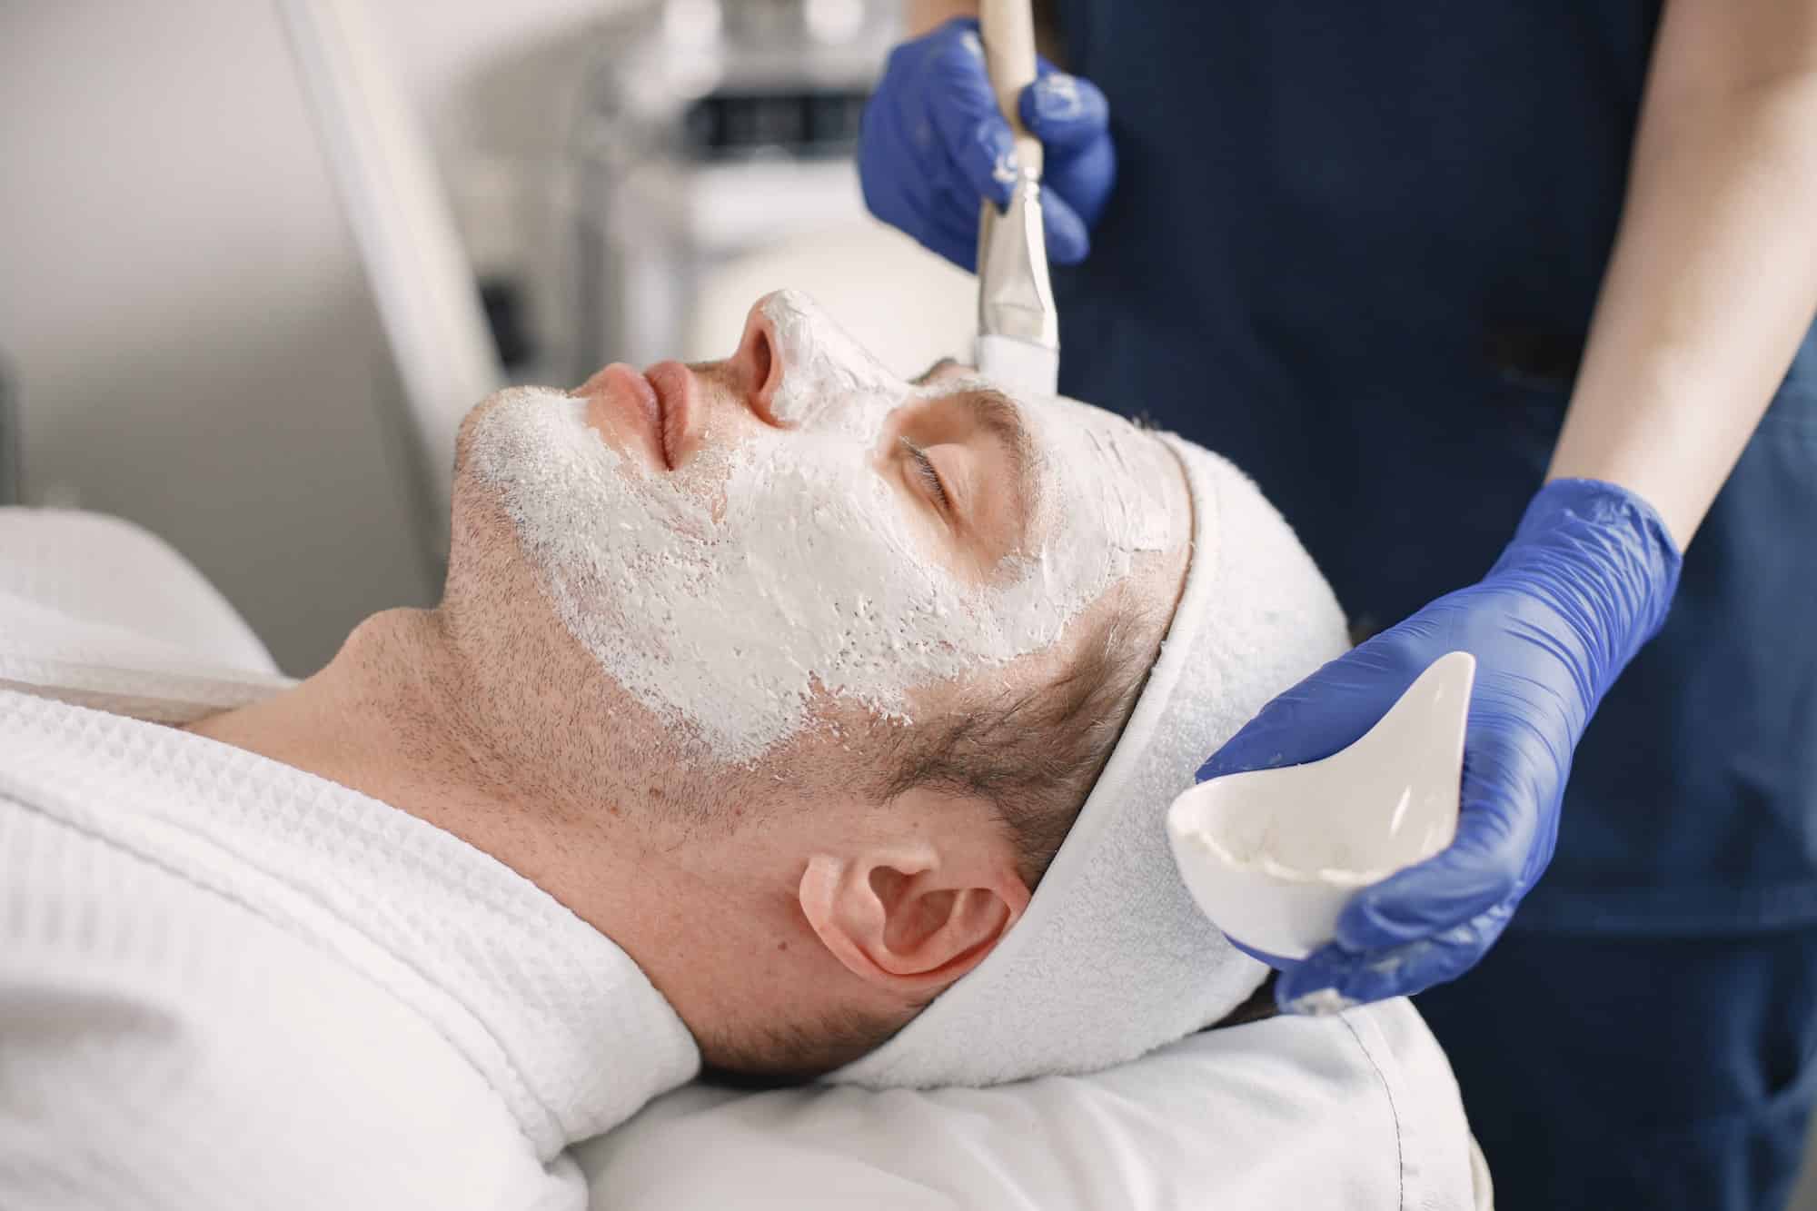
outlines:
M836 744L852 709L912 727L919 691L1056 649L1188 538L1161 442L1072 400L903 382L787 291L727 362L494 396L458 480L456 571L460 502L494 500L560 626L641 707L620 722L694 766Z

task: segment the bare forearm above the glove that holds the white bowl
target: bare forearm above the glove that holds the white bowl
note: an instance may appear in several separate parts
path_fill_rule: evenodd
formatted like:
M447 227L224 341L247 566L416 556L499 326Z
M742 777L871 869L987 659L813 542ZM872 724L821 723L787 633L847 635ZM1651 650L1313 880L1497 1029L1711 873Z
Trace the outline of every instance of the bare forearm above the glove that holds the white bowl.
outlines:
M1548 478L1683 549L1817 313L1817 0L1672 0L1621 233Z

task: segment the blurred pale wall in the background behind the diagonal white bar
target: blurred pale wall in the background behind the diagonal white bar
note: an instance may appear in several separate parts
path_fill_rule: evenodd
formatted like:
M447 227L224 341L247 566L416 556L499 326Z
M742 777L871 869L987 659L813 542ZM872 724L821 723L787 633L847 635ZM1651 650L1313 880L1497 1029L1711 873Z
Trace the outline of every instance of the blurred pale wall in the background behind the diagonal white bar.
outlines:
M485 104L500 71L611 7L372 4L451 156L509 109ZM534 125L556 89L512 95ZM383 340L271 5L0 5L0 175L31 500L164 535L291 673L432 600Z

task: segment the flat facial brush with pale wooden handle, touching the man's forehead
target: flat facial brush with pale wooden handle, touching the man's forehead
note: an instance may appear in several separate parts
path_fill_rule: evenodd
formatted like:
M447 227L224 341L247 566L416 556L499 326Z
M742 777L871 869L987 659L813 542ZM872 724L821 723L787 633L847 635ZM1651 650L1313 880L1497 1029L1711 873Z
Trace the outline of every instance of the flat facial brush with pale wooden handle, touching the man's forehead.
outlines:
M1047 273L1041 225L1041 140L1018 115L1016 98L1034 84L1034 13L1028 0L983 0L985 67L1016 135L1016 187L998 213L988 200L978 224L978 369L1038 395L1059 389L1059 311Z

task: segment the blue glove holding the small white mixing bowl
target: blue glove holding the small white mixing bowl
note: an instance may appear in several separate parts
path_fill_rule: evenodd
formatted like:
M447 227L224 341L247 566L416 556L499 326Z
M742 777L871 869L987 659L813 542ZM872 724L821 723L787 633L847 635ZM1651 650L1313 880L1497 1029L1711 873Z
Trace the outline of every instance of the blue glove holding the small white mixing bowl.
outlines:
M1610 682L1659 629L1679 549L1644 500L1554 480L1481 584L1441 596L1263 707L1199 778L1319 760L1386 715L1448 651L1477 658L1457 838L1359 891L1337 938L1276 967L1276 1002L1328 1013L1468 971L1552 860L1572 749Z

